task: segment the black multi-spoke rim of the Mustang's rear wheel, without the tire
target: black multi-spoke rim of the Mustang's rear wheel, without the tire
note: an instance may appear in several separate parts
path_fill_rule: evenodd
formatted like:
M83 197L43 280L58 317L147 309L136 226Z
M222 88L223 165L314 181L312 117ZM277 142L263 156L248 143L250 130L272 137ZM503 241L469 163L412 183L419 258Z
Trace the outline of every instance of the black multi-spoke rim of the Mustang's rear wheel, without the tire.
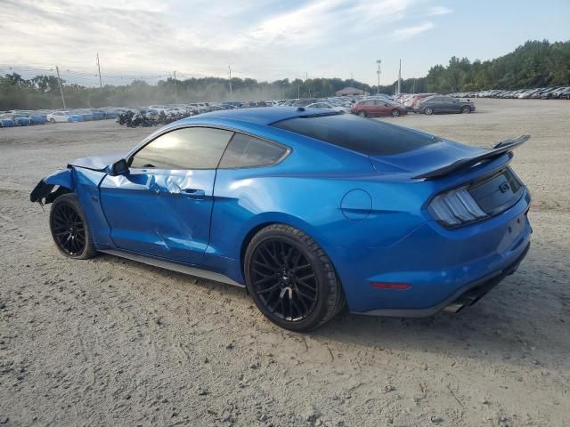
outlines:
M281 238L263 241L256 246L249 272L257 298L272 315L299 321L313 312L317 277L311 262L294 243Z

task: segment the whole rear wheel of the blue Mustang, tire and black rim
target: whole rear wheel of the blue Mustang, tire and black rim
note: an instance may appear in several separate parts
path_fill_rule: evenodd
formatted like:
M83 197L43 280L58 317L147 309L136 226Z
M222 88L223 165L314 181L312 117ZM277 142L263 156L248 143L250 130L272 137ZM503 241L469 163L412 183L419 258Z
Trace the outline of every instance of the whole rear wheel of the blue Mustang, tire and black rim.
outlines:
M252 238L245 255L248 292L275 325L291 331L322 326L345 306L327 254L303 231L273 224Z

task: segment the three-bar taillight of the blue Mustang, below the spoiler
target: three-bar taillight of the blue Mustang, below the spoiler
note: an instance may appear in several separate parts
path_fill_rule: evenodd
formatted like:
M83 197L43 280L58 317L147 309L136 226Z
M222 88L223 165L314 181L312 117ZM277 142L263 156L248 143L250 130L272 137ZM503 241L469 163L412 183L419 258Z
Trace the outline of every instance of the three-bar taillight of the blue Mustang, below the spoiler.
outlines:
M489 216L476 204L467 187L452 189L437 195L428 205L428 212L436 221L451 227Z

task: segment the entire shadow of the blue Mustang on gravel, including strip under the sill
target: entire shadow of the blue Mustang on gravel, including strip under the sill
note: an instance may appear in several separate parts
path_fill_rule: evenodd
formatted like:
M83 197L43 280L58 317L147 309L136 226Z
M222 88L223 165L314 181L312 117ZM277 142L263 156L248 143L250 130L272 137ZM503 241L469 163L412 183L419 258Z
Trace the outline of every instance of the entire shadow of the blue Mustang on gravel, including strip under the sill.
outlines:
M193 294L199 292L212 295L208 298L220 302L231 301L234 309L241 308L244 313L253 309L253 300L238 286L194 278L107 254L98 257L96 262L109 262L110 267L126 270L133 277L147 278L154 283L161 281L161 277L172 278L175 283L167 286L196 286L191 291ZM338 348L349 345L372 353L379 349L418 351L448 358L555 367L560 363L558 355L561 358L562 354L570 351L568 334L564 333L570 318L541 313L539 322L535 313L540 313L540 308L537 309L535 299L529 296L531 290L526 289L525 272L517 274L519 277L505 279L480 302L456 314L439 313L429 318L378 318L345 310L313 332L284 335L279 327L271 325L261 315L256 316L255 322L265 323L256 327L265 330L265 334L279 335L280 340L283 337L287 339L289 334L293 337L308 335L326 341L333 348L336 347L334 342L338 342ZM539 323L541 327L537 326ZM545 330L545 324L552 327Z

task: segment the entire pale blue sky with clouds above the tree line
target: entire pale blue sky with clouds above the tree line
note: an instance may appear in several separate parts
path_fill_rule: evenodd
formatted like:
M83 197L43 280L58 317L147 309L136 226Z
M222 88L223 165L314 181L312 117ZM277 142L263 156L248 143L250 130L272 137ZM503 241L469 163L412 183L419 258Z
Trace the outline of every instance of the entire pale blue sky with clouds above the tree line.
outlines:
M570 0L2 0L0 74L120 85L171 77L423 77L452 55L489 60L570 40Z

